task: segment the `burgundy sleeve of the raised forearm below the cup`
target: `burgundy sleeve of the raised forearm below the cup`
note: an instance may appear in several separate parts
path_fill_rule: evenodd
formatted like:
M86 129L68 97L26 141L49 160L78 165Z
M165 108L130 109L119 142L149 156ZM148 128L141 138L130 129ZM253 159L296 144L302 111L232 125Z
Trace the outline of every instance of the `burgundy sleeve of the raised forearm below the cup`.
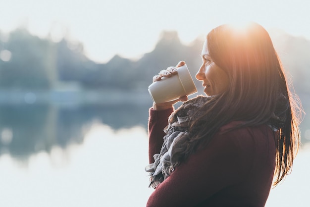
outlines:
M173 108L166 110L149 110L149 163L154 163L153 155L160 153L163 137L166 135L163 129L168 125L168 117Z

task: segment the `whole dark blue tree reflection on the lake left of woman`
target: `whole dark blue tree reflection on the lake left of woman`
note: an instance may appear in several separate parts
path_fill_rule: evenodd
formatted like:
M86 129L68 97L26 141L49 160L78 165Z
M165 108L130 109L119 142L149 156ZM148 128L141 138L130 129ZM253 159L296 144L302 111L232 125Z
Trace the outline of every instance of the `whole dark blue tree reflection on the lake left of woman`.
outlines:
M51 105L12 104L0 106L0 155L27 160L32 154L51 153L82 143L94 122L114 130L140 125L145 130L149 104Z

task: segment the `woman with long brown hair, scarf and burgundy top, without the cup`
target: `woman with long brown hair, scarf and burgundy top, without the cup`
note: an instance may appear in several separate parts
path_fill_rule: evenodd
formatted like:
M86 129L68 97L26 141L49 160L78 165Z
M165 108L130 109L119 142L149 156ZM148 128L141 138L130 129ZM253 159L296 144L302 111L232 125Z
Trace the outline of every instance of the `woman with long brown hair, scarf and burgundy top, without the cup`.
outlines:
M196 78L207 97L175 111L173 104L187 97L150 109L146 170L155 191L147 206L263 207L300 141L280 60L257 23L210 31L202 60ZM175 73L169 67L153 81Z

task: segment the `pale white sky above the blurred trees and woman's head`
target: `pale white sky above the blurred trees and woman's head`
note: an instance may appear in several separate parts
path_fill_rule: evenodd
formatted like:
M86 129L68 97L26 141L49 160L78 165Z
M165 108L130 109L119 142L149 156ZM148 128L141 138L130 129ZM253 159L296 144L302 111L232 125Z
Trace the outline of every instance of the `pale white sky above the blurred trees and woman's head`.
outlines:
M306 0L0 0L0 38L26 27L40 38L81 42L90 59L104 63L151 52L162 31L177 31L189 44L241 21L310 40L309 10Z

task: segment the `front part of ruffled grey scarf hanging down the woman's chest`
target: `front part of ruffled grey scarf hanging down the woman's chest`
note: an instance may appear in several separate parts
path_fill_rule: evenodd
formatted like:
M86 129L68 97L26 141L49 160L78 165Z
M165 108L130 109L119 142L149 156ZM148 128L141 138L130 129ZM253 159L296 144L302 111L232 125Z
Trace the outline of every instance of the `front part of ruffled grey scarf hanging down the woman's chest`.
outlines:
M160 153L154 155L155 162L146 166L150 172L154 189L166 179L179 164L184 149L190 142L189 126L194 114L209 101L211 97L198 96L182 104L168 118L168 126L164 129L163 145Z

